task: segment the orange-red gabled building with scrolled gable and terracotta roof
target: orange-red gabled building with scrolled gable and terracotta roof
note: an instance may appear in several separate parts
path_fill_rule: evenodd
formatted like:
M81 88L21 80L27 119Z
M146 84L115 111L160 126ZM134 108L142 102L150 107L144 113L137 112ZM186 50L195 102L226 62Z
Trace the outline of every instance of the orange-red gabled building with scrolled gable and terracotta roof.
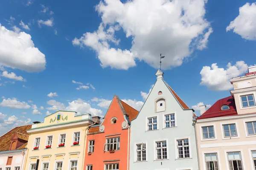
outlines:
M139 112L114 96L100 125L87 133L84 170L127 170L130 125Z

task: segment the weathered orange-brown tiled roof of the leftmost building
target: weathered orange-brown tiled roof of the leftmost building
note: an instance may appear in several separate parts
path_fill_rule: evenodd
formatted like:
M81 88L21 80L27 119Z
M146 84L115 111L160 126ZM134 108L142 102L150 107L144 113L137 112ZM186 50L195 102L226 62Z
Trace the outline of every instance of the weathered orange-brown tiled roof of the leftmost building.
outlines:
M29 135L26 130L31 129L32 125L25 125L25 126L19 126L15 127L9 132L5 133L3 136L0 136L0 151L9 150L11 145L11 139L12 136L18 132L23 133L25 135ZM17 133L17 134L18 134Z

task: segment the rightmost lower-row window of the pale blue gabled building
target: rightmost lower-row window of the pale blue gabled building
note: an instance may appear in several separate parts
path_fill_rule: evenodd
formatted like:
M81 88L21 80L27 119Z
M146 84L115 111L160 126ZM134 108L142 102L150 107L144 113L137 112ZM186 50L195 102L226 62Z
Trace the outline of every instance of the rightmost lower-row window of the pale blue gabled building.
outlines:
M189 139L177 140L178 158L189 158Z

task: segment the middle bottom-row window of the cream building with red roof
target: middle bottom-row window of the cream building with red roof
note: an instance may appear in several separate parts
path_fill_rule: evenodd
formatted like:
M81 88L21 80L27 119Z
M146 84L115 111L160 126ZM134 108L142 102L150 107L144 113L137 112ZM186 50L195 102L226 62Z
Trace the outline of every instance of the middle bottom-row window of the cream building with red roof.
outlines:
M243 170L243 164L240 152L227 153L230 170Z

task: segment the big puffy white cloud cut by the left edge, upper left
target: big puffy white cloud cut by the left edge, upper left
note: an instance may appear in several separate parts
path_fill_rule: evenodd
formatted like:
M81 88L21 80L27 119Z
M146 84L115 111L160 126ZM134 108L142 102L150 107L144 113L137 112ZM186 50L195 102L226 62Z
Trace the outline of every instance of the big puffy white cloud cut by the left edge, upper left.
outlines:
M0 24L0 66L39 72L45 65L45 55L35 48L29 34L8 30Z

